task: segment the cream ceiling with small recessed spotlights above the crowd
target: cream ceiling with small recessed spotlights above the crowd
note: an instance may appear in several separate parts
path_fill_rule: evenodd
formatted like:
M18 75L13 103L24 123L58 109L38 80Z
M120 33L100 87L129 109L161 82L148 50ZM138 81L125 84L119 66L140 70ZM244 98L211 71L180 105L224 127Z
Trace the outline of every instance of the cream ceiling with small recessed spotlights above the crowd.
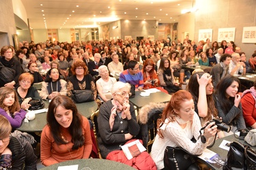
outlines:
M160 23L171 23L177 22L182 10L190 9L193 7L193 1L195 3L195 0L21 1L27 11L27 18L29 18L29 25L32 29L98 27L120 19L158 20ZM136 10L136 8L138 9Z

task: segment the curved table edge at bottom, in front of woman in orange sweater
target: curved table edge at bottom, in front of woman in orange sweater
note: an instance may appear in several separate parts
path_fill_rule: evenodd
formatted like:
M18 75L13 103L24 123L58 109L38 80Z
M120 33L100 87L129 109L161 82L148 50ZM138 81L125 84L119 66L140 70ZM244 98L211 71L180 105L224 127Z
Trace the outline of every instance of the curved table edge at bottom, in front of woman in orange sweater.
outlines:
M86 168L89 170L106 170L106 169L127 169L132 170L134 168L123 164L118 163L112 160L106 160L106 159L76 159L76 160L69 160L63 163L57 163L55 165L51 165L48 167L42 168L42 170L57 170L59 166L67 166L67 165L79 165L79 170Z

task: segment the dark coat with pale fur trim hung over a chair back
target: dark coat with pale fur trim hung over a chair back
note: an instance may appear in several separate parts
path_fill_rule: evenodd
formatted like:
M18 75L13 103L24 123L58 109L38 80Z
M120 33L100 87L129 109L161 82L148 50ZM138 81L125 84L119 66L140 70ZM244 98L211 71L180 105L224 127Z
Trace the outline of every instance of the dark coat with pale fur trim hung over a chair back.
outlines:
M141 125L141 137L143 146L150 152L157 134L157 120L161 117L165 103L150 103L141 107L139 111L139 124Z

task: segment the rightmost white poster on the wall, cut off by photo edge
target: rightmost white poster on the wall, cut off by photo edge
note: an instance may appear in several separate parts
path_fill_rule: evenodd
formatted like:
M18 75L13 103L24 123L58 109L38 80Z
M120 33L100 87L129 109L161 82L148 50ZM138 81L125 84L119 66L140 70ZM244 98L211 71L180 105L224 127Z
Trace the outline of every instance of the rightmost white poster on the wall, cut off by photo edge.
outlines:
M244 27L242 43L256 43L256 27Z

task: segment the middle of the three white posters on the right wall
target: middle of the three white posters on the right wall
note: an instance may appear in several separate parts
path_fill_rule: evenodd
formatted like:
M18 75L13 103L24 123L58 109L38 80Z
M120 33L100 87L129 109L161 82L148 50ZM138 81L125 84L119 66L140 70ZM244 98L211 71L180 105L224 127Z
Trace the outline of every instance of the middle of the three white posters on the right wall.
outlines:
M218 42L223 40L235 41L236 28L222 28L218 29Z

